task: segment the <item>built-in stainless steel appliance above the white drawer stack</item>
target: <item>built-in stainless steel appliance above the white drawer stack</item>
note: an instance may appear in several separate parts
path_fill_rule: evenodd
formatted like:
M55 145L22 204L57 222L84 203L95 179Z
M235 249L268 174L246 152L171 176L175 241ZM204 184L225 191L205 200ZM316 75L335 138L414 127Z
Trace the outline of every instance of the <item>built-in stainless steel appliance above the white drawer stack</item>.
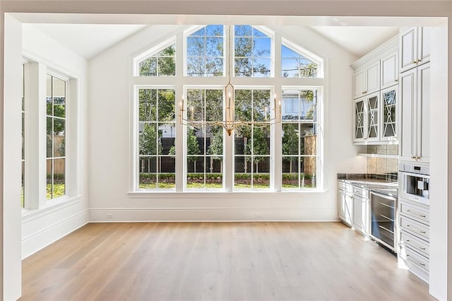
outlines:
M399 196L403 199L430 204L430 169L427 166L399 165Z

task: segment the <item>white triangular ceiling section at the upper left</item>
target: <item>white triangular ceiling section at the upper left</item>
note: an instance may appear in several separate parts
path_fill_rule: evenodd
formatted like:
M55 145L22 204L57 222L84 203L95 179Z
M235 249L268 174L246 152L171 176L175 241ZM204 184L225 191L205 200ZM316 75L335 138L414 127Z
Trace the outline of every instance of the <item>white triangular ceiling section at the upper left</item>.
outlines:
M146 25L33 24L33 26L73 52L90 59Z

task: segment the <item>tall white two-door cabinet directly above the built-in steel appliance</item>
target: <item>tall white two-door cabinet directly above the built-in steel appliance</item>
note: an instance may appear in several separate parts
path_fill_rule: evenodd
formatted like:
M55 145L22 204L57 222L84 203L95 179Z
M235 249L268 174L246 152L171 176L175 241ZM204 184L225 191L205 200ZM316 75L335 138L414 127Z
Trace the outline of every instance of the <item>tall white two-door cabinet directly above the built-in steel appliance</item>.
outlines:
M400 73L400 160L429 163L430 64Z

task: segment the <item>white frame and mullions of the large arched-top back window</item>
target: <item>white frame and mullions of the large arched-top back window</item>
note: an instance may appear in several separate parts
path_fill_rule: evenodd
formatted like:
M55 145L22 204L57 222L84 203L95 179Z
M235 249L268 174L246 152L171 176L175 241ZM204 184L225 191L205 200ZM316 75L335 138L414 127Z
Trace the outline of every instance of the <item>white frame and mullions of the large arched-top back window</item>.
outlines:
M171 37L165 41L174 41L176 42L176 76L174 77L148 77L144 78L144 76L136 76L136 73L134 71L131 72L131 85L133 88L131 89L131 160L130 160L130 170L131 170L131 177L130 177L130 184L129 184L129 196L134 198L145 198L145 199L171 199L172 197L180 197L181 194L186 195L186 197L194 197L203 199L203 198L209 198L213 195L215 197L222 198L223 196L225 198L228 197L230 193L234 193L234 195L246 195L250 192L253 193L259 193L252 190L242 190L234 191L233 189L233 182L234 182L234 162L233 162L233 152L234 152L234 146L233 146L233 139L228 142L228 136L224 134L223 139L223 187L224 189L222 191L212 191L212 190L201 190L197 189L196 191L187 191L185 189L186 187L186 151L185 151L185 145L186 145L186 129L185 126L179 123L179 117L177 113L177 122L176 122L176 191L159 191L157 189L154 190L145 190L145 191L138 191L136 187L138 187L138 177L137 177L137 168L138 168L138 151L137 151L137 141L138 141L138 117L136 116L137 111L137 105L138 102L136 100L136 89L138 86L153 86L158 88L165 88L165 87L172 87L175 90L176 95L176 110L179 112L181 101L184 100L186 107L186 89L187 88L218 88L218 87L225 87L225 84L227 82L227 71L225 70L225 76L216 76L216 77L202 77L202 76L186 76L186 37L187 35L194 33L199 28L202 28L206 25L196 25L191 26L187 28L186 30L183 30L181 33L176 34L174 37ZM227 26L230 25L223 25L224 26L224 42L227 44ZM233 26L233 25L231 25ZM318 131L317 131L317 154L316 154L316 188L314 189L297 189L295 191L283 191L284 194L297 194L300 192L306 193L309 192L318 192L323 191L324 187L324 172L323 172L323 102L324 99L324 90L326 89L326 79L324 78L324 71L325 63L321 55L315 54L314 52L306 49L302 45L299 44L299 42L291 42L290 40L287 40L285 37L281 36L278 33L273 33L272 30L269 30L266 27L263 26L254 26L252 27L262 31L266 35L269 35L272 40L272 50L271 50L271 57L272 57L272 76L268 78L244 78L244 77L234 77L234 72L232 71L232 81L233 85L236 89L238 88L270 88L273 91L273 95L275 95L276 98L280 98L280 93L283 90L283 87L293 87L293 88L304 88L304 89L316 89L318 91L318 103L317 103L317 124L318 124ZM273 33L270 35L270 33ZM233 34L233 33L232 33ZM294 39L297 40L297 39ZM167 43L165 44L167 45ZM156 43L155 46L150 47L150 49L163 49L165 45L162 45L162 43ZM297 51L302 54L304 57L307 57L307 59L310 59L311 61L315 62L318 66L317 69L317 77L316 78L283 78L281 74L281 46L289 46L292 49L297 49ZM227 45L225 45L224 49L227 49ZM150 54L152 50L146 51L146 54ZM142 52L144 53L144 52ZM136 54L135 57L131 57L131 64L134 64L133 70L136 70L136 64L137 57L143 58L144 55L142 53ZM229 54L225 52L225 62L224 67L226 68L229 64ZM231 59L234 59L234 55L231 55ZM223 102L225 103L225 102ZM273 102L270 102L273 104ZM186 114L186 111L184 112ZM269 193L272 191L280 192L282 183L281 183L281 176L282 176L282 162L281 162L281 137L282 137L282 124L274 124L270 127L271 131L271 140L273 143L270 145L270 190L266 190L263 193ZM183 155L180 155L180 154ZM181 162L182 160L182 162Z

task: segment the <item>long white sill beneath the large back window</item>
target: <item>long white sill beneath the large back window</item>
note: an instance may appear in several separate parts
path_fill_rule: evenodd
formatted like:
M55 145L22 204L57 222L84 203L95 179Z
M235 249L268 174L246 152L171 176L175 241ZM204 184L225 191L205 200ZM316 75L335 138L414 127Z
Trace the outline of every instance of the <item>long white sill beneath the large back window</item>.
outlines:
M253 196L270 196L278 195L284 196L299 196L300 194L322 194L327 191L323 189L305 189L297 191L131 191L127 195L130 199L230 199L234 197L249 197Z

